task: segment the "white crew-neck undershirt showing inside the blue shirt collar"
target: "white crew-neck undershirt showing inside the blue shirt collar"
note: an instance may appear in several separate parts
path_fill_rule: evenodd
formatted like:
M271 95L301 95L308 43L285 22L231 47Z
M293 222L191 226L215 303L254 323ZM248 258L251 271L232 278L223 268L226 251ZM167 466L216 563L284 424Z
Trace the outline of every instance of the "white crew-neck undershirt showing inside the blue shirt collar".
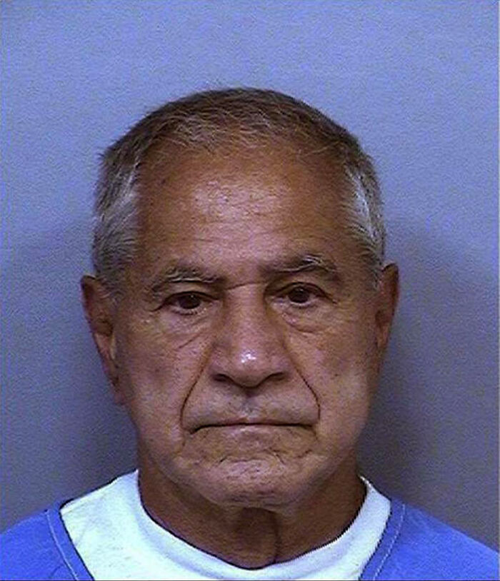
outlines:
M230 565L157 525L141 504L137 470L72 500L61 515L96 580L355 580L376 549L390 509L389 500L364 483L364 503L343 535L301 557L256 570Z

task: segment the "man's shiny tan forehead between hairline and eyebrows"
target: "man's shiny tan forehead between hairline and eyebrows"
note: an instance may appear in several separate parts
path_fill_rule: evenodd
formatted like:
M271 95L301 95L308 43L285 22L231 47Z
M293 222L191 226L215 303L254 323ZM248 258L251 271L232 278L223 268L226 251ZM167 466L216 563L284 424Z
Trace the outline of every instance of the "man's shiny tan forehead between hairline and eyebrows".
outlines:
M348 186L339 166L262 143L186 153L164 148L142 168L139 262L271 261L276 253L339 252ZM344 248L349 251L349 248Z

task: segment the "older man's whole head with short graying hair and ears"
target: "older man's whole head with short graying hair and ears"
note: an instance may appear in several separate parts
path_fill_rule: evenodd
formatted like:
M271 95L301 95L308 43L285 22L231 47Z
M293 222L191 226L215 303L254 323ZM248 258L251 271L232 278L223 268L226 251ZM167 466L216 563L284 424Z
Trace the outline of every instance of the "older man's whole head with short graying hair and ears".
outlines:
M106 152L94 235L86 312L145 473L272 507L355 469L397 271L353 136L273 91L167 103Z

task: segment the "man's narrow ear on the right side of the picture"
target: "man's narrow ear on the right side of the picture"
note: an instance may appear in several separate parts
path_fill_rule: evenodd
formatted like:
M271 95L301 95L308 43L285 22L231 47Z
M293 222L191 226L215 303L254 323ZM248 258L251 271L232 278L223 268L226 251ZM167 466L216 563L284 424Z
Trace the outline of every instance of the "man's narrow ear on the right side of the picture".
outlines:
M377 288L376 345L381 362L389 342L392 320L399 299L399 270L396 264L388 264L381 273Z

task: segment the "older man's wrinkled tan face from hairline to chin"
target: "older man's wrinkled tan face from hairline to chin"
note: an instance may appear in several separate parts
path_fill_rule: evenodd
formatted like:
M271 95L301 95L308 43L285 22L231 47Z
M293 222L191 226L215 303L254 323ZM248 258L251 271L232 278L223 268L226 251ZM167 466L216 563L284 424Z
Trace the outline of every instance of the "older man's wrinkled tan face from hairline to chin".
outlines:
M287 505L353 458L394 288L370 290L340 175L264 146L143 171L105 359L141 462L166 481Z

